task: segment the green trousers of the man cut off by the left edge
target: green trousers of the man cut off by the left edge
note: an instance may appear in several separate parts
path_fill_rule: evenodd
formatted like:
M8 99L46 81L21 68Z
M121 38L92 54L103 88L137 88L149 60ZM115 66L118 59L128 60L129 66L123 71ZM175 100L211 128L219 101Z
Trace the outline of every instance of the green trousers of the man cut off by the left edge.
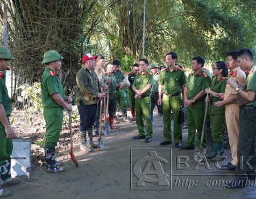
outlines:
M9 121L9 117L7 119ZM5 127L0 122L0 165L11 158L11 152L13 152L13 140L6 138Z

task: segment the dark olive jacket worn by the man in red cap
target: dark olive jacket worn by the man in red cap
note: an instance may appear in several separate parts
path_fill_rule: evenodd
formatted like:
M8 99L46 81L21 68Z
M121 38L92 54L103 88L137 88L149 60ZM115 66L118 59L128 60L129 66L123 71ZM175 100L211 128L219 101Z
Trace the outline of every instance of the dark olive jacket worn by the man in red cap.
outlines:
M101 84L98 76L92 70L92 73L82 65L82 68L76 74L77 94L76 105L80 105L80 100L84 105L93 105L98 101L98 93L101 92Z

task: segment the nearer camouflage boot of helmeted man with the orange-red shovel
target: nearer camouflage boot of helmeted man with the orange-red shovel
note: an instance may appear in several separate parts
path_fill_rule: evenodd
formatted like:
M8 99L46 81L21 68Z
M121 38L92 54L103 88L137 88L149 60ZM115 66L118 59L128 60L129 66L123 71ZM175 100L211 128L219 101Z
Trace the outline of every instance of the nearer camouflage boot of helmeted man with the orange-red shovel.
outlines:
M46 172L60 173L65 171L63 167L58 167L56 165L55 148L45 148L44 153L47 163Z

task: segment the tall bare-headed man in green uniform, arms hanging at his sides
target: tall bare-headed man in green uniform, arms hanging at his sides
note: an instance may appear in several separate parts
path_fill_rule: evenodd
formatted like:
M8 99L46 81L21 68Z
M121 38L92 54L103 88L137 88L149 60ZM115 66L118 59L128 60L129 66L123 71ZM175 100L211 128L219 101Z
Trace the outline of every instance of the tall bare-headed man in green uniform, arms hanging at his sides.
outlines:
M171 144L171 111L174 118L174 142L177 148L180 147L182 141L182 130L181 124L179 123L179 110L181 107L181 93L184 92L185 88L185 73L183 69L175 66L177 54L170 52L166 55L166 64L168 68L164 69L160 73L159 77L159 96L158 104L163 105L163 121L164 121L164 141L160 145ZM163 99L161 99L162 91ZM184 95L183 95L184 96Z

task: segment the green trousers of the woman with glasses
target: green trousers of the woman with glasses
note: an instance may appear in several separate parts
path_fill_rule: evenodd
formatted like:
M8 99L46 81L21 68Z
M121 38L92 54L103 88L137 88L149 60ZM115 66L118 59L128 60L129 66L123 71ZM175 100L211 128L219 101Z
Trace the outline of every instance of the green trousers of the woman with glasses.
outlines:
M212 139L216 144L223 143L223 128L225 126L225 114L210 114L210 128L212 130Z

